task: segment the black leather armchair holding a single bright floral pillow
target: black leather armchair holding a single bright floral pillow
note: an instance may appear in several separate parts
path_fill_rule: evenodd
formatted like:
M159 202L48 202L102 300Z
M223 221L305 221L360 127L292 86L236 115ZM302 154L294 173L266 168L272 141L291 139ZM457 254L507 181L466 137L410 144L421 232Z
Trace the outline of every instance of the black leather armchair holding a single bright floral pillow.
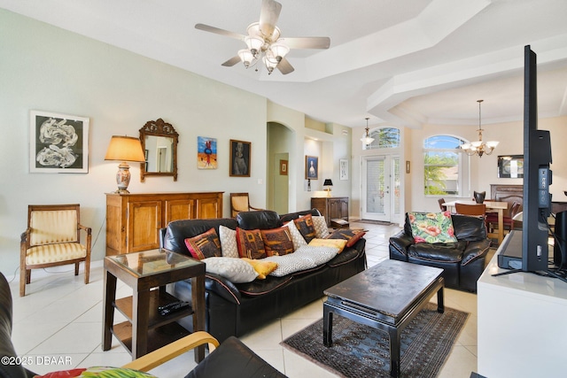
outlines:
M404 228L390 238L390 258L425 266L443 268L445 286L477 292L477 281L485 269L491 241L485 220L452 214L457 243L415 243L406 213Z

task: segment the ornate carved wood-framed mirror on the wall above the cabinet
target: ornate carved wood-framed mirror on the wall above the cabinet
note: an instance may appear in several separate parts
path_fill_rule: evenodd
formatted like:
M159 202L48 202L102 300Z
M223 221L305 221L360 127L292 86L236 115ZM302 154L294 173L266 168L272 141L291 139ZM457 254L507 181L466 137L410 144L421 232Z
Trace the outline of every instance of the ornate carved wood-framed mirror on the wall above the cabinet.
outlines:
M177 142L179 135L162 119L149 120L140 128L145 162L140 164L140 180L145 176L173 176L177 181Z

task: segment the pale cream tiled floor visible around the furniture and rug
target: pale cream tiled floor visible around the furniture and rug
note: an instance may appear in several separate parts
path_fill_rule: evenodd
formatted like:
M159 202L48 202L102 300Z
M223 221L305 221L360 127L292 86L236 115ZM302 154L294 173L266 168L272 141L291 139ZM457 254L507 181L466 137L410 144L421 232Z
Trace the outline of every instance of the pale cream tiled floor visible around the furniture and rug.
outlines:
M353 222L351 227L369 230L365 236L369 266L388 258L388 238L399 228ZM115 340L110 351L101 349L103 269L100 261L93 263L90 275L91 282L84 285L82 274L75 277L71 266L63 266L59 273L34 271L26 297L18 297L18 282L11 283L14 295L12 340L20 357L43 361L28 366L35 373L45 374L75 366L120 366L130 360L128 352ZM470 312L470 317L439 376L469 377L477 368L477 297L451 289L445 292L446 305ZM128 295L131 295L130 289L120 286L117 297ZM322 301L323 298L274 320L241 340L291 378L335 376L279 344L285 337L321 319ZM120 320L119 315L115 318ZM193 354L189 352L151 373L163 378L177 378L183 377L193 366Z

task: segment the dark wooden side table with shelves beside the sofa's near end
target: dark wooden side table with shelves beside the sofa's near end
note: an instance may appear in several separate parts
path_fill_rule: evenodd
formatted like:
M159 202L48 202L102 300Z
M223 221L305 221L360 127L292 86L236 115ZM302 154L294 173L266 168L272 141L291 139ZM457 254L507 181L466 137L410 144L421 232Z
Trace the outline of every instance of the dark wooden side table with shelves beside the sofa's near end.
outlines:
M105 257L103 351L112 335L130 352L132 359L187 336L188 330L175 320L193 316L193 330L205 330L205 264L164 249ZM158 306L178 299L166 292L167 283L191 279L192 304L162 316ZM116 282L125 282L132 297L116 299ZM114 323L114 309L128 320ZM195 349L195 361L205 358L205 346Z

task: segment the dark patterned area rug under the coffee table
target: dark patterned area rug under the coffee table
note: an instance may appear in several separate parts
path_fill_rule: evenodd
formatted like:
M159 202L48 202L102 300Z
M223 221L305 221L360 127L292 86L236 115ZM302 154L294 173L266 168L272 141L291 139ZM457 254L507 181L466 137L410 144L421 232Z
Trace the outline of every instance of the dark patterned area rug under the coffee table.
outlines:
M445 363L469 313L428 304L401 333L402 377L435 377ZM322 320L283 340L282 345L342 377L389 377L386 332L333 316L333 345L322 344Z

